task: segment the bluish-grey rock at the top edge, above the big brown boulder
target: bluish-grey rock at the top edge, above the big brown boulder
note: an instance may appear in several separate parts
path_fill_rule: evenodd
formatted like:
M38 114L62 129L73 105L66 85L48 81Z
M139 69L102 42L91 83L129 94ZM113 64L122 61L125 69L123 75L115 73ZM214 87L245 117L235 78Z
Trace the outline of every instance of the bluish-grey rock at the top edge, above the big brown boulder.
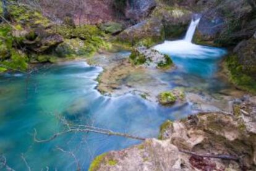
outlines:
M124 14L127 19L142 21L155 8L155 0L131 0L127 2Z

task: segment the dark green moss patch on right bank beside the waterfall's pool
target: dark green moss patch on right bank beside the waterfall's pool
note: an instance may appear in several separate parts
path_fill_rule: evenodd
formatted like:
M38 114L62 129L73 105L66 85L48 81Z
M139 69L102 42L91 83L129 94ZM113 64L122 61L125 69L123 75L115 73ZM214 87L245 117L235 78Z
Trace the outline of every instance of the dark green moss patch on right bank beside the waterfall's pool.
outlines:
M242 65L239 64L236 55L230 55L225 60L225 65L229 70L229 80L242 90L256 93L256 79L242 72Z

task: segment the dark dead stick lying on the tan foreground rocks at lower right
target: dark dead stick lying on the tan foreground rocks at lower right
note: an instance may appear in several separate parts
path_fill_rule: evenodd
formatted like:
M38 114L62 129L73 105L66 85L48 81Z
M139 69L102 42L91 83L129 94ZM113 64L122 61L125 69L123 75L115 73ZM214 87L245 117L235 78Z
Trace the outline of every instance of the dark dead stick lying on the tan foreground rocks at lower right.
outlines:
M228 161L236 161L239 162L239 157L236 156L230 156L228 154L220 154L220 155L213 155L213 154L197 154L192 151L186 151L183 149L179 149L180 152L186 153L186 154L191 154L193 156L198 156L198 157L205 157L205 158L214 158L214 159L223 159L223 160L228 160Z

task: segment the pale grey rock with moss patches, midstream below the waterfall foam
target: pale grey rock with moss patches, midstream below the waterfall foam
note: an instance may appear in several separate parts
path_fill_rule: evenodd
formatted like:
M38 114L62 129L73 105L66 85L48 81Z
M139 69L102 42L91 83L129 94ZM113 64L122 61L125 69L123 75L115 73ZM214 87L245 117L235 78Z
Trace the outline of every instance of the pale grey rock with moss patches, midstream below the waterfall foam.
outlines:
M155 49L147 49L145 46L135 48L130 54L130 59L134 65L143 65L150 68L167 69L173 65L169 56L161 54Z

